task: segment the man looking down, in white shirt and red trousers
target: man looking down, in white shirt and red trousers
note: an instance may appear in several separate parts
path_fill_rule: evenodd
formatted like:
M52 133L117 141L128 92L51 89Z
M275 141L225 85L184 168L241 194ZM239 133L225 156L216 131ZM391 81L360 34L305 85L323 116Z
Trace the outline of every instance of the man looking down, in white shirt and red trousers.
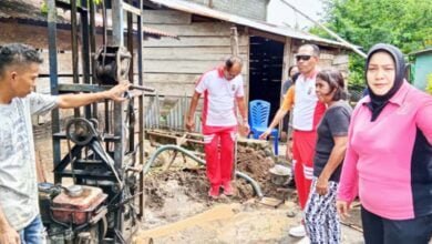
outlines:
M207 163L207 177L210 182L208 195L213 199L219 196L220 186L225 195L233 195L232 171L234 162L234 142L237 132L236 110L243 118L241 130L249 132L245 92L243 88L243 62L237 57L226 60L224 65L204 73L198 80L192 96L186 128L195 128L195 110L199 96L204 94L203 134L204 150ZM220 150L219 150L220 149Z

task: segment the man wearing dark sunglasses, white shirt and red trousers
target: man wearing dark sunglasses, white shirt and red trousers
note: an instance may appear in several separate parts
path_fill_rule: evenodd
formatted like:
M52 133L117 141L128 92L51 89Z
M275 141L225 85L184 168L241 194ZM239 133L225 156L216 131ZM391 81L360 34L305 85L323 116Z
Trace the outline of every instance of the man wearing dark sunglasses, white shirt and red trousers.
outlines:
M319 48L315 44L301 45L296 60L300 77L296 81L296 105L292 111L292 163L298 199L304 210L313 176L317 125L326 111L326 105L318 101L315 92ZM305 236L305 226L301 224L292 227L289 234L297 237Z

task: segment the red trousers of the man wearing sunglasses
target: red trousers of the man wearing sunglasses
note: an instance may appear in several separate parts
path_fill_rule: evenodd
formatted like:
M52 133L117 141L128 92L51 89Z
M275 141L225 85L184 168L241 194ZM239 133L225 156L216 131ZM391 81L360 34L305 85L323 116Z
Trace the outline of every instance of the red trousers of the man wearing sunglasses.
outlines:
M295 130L292 132L294 175L301 210L306 206L312 183L316 143L316 131Z

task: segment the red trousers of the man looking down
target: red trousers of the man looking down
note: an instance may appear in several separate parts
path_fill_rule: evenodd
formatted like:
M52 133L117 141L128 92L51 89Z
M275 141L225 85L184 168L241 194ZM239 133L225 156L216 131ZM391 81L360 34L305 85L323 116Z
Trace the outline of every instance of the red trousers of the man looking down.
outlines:
M232 180L237 126L203 126L207 177L213 186Z

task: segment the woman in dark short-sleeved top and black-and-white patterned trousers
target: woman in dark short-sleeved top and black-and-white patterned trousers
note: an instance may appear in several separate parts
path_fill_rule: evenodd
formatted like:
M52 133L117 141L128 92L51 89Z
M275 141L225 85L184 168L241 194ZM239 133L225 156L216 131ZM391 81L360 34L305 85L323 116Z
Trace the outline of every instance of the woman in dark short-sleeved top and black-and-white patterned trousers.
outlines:
M305 209L305 226L311 243L340 243L336 195L346 152L351 106L341 73L318 73L316 93L327 111L318 124L313 157L313 179Z

